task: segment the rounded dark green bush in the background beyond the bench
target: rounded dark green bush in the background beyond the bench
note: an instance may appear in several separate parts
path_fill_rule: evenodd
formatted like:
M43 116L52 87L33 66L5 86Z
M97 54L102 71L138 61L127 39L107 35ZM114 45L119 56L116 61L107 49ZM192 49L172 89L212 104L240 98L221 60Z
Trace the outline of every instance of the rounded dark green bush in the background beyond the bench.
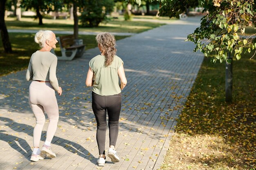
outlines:
M98 26L106 20L106 14L112 12L114 5L114 0L86 0L80 17L81 25L84 27Z

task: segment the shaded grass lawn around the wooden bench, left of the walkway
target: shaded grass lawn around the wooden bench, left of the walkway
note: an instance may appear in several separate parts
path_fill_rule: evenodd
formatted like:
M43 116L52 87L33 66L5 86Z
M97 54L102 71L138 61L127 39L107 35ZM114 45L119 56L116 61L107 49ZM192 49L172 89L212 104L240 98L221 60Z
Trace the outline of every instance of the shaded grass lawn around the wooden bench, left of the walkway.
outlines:
M34 33L9 33L13 50L11 54L4 53L2 41L0 41L0 76L27 68L31 55L40 49L39 45L34 42L34 36ZM79 38L83 39L83 43L86 44L86 49L97 47L95 37L96 35L79 35ZM126 37L115 36L116 40ZM59 54L60 48L58 44L56 46L57 54Z

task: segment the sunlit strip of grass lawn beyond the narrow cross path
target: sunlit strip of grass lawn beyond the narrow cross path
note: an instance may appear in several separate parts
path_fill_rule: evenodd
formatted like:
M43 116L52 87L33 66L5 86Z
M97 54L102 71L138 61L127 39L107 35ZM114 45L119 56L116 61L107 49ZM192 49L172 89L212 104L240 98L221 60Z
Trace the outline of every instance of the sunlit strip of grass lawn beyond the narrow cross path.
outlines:
M5 20L7 29L49 29L58 31L73 31L73 20L64 19L43 19L43 25L38 25L38 20L34 18L21 18L21 21L16 21L16 18L7 18ZM141 22L141 21L124 21L124 20L110 20L106 24L101 23L98 27L84 28L79 26L79 31L87 32L127 32L127 33L141 33L149 29L156 28L163 24L153 22Z

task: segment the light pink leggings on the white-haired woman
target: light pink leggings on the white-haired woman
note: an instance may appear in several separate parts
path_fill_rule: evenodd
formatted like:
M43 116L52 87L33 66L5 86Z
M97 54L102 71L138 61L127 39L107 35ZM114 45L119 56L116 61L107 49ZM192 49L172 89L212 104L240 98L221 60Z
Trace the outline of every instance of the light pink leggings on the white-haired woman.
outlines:
M46 141L51 142L58 124L58 103L54 88L50 82L31 82L29 86L29 105L36 117L33 143L39 147L43 126L45 124L45 112L49 118L49 126L46 133Z

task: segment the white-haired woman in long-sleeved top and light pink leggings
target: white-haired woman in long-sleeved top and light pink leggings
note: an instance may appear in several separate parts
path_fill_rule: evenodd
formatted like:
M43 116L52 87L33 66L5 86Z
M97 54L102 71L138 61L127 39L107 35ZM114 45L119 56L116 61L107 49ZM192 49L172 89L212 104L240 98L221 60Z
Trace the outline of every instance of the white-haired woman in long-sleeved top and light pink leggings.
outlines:
M56 36L52 31L39 31L36 33L35 42L41 47L32 54L27 68L27 81L33 80L29 86L29 105L36 117L36 126L33 133L34 150L31 161L56 157L52 151L51 142L57 129L58 103L55 91L61 95L62 89L58 86L56 77L57 57L50 52L56 48ZM42 152L39 149L40 138L45 124L45 114L49 118L49 126L46 133L45 144Z

